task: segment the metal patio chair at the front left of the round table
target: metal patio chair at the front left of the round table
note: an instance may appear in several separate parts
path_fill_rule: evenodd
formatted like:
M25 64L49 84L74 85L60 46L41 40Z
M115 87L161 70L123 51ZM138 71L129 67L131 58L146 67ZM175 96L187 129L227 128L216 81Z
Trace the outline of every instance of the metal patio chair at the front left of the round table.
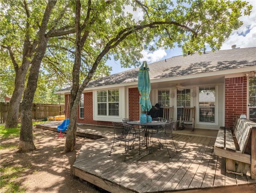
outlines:
M111 151L113 149L115 139L125 142L126 153L125 153L124 161L126 159L130 141L132 141L132 145L133 145L135 139L139 139L139 154L140 154L140 136L136 135L136 131L132 131L132 130L134 130L134 127L132 125L128 125L125 123L118 123L118 122L113 122L112 124L114 127L114 140L113 140L113 144L112 144L109 156L111 155ZM132 133L131 131L135 132L135 134ZM126 147L126 142L128 142L127 147ZM119 146L120 145L121 145L121 143L119 144ZM132 145L130 145L130 149L131 149Z

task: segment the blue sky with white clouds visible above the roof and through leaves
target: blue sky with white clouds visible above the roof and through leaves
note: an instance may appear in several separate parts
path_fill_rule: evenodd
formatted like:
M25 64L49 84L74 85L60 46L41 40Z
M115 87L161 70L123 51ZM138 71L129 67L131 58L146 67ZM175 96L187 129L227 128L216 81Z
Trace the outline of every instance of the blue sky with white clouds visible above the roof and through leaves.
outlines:
M229 50L234 44L236 45L236 48L256 47L256 0L248 0L248 2L250 2L250 4L253 6L250 16L242 16L240 18L240 20L242 20L244 24L238 30L234 30L232 32L230 37L225 40L220 50ZM138 15L138 18L140 18L140 15ZM169 50L164 50L163 48L160 48L154 52L143 50L142 54L143 58L140 59L140 62L147 61L148 64L151 64L153 62L171 58L173 56L180 56L182 55L182 50L178 47ZM108 61L107 64L108 66L112 66L111 74L116 74L118 72L123 72L125 70L131 69L121 68L121 65L114 60Z

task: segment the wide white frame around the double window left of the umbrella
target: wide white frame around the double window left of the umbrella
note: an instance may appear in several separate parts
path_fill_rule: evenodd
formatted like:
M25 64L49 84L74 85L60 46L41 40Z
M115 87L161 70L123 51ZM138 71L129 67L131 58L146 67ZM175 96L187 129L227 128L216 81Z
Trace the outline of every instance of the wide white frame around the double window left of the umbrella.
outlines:
M109 116L108 115L108 103L107 103L107 115L98 115L98 101L97 101L97 92L98 91L108 91L119 89L119 115L118 116ZM101 90L93 91L93 119L95 121L117 121L120 122L122 115L124 114L124 105L125 105L125 91L124 88L107 88Z

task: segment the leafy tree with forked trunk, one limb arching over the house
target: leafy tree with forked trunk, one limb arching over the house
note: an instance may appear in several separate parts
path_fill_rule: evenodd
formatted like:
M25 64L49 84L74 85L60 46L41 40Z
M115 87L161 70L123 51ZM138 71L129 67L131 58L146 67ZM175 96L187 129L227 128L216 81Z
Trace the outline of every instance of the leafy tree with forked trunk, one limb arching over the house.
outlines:
M129 6L142 12L142 18L126 12ZM174 43L184 54L201 53L206 44L219 50L232 30L242 25L238 19L242 10L250 14L251 9L242 1L179 0L175 5L168 0L76 1L76 54L65 151L74 149L80 96L102 60L113 55L122 66L138 66L143 49L174 48ZM92 68L79 84L82 50L86 50Z

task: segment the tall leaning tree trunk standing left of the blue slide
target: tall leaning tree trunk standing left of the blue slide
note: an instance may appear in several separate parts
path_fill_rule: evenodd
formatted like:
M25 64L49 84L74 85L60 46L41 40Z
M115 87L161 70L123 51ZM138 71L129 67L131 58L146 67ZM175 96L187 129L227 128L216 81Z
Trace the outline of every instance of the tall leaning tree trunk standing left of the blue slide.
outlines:
M42 20L41 27L38 32L38 47L36 48L36 52L32 60L32 65L28 76L28 83L21 103L21 128L19 150L22 152L32 151L36 149L33 142L32 133L32 105L34 94L36 92L41 62L46 51L47 42L49 40L49 38L46 38L45 36L47 24L50 18L52 8L55 6L55 4L56 1L52 0L48 1L48 4L46 6L44 18Z

